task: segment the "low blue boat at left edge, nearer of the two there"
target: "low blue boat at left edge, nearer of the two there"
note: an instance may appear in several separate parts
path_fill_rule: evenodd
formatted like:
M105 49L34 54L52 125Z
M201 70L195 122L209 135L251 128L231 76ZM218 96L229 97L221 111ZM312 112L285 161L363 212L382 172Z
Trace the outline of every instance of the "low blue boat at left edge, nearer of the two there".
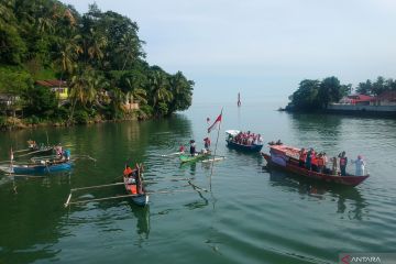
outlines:
M68 170L70 168L70 161L41 161L37 163L15 164L0 169L11 174L47 174Z

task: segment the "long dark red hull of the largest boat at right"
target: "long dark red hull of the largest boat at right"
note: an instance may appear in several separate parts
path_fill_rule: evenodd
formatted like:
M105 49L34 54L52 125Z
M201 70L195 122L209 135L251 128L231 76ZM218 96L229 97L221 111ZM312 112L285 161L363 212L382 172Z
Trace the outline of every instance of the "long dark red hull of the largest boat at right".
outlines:
M370 175L365 176L337 176L337 175L328 175L322 173L317 173L314 170L308 170L304 167L299 167L297 164L286 163L285 166L274 163L271 158L271 155L262 153L263 157L267 162L268 165L284 169L286 172L290 172L296 175L300 175L307 178L318 179L326 183L333 183L339 185L346 186L358 186L363 183Z

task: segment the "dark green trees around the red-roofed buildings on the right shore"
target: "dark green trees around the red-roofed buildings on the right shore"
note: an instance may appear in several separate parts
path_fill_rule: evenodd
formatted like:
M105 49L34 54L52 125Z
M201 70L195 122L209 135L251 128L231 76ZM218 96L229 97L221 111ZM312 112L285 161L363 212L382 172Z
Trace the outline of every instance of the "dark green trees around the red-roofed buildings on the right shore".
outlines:
M288 110L315 111L326 109L329 103L338 102L352 92L352 85L341 85L337 77L328 77L322 80L305 79L298 89L289 97ZM360 82L354 89L356 94L378 96L384 91L396 90L396 80L378 77L376 81L366 80Z

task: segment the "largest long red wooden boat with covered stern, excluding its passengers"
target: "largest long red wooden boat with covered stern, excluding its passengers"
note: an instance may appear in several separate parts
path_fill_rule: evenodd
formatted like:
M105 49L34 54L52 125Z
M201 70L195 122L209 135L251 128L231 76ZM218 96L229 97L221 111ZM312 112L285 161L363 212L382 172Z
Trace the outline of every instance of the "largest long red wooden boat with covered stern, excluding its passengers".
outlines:
M369 174L364 176L355 176L348 174L346 176L332 175L309 170L300 167L298 164L298 152L300 150L287 145L270 145L270 154L262 153L267 165L300 175L307 178L319 179L326 183L333 183L346 186L358 186L369 178Z

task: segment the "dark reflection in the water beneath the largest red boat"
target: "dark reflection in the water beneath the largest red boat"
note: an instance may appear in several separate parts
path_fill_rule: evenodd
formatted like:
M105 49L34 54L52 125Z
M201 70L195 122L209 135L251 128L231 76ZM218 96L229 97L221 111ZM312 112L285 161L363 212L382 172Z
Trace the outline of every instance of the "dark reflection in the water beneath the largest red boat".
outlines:
M337 213L344 218L362 220L363 210L367 206L361 191L356 187L331 185L296 175L290 175L266 166L263 172L270 174L272 186L286 189L288 193L297 193L300 199L311 197L330 202L337 201Z

